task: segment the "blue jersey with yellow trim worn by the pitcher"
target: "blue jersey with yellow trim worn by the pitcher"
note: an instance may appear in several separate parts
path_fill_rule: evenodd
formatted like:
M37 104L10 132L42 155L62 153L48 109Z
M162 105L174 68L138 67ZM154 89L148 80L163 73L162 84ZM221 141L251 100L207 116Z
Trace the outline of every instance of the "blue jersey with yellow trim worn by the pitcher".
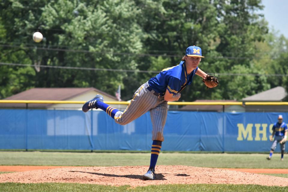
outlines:
M149 79L148 84L157 93L164 94L168 89L169 93L176 95L191 84L197 70L198 67L188 75L185 61L181 61L179 65L163 69L158 75Z

